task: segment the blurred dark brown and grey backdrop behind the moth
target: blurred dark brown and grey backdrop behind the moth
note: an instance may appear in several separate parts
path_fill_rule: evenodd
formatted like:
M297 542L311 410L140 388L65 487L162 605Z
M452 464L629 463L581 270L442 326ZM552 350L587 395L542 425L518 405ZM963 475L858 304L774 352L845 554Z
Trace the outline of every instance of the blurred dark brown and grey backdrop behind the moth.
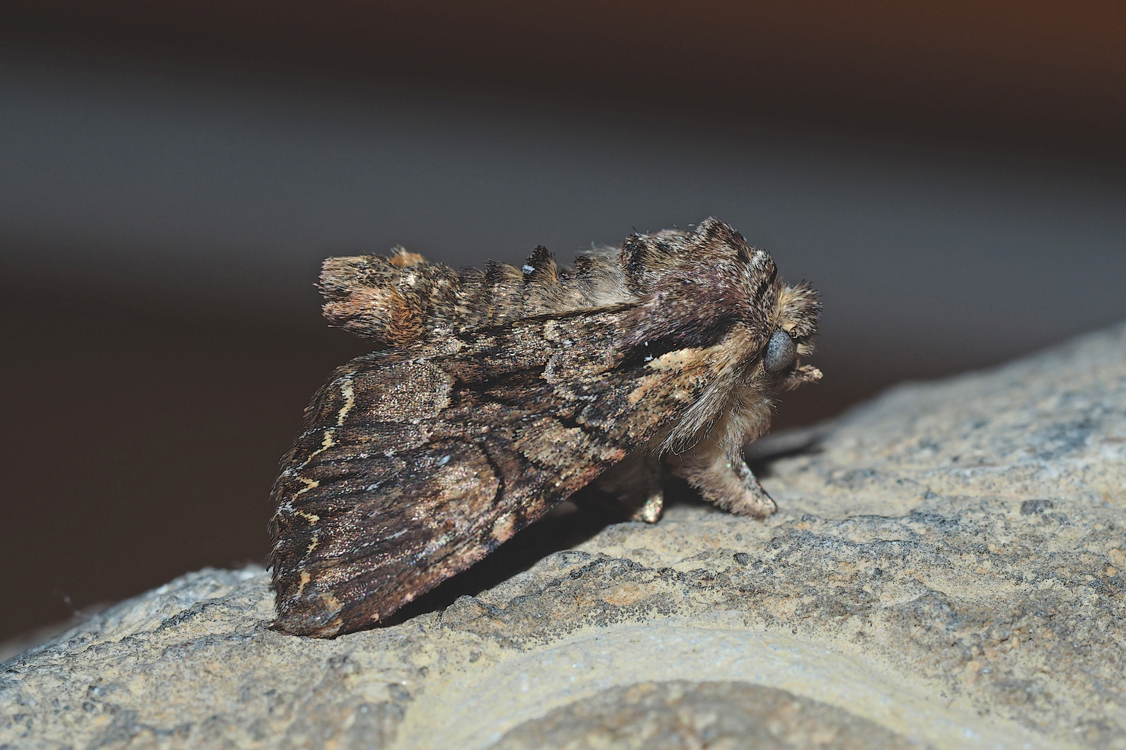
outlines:
M365 344L322 257L715 215L808 279L781 425L1126 318L1126 6L8 0L0 639L261 560Z

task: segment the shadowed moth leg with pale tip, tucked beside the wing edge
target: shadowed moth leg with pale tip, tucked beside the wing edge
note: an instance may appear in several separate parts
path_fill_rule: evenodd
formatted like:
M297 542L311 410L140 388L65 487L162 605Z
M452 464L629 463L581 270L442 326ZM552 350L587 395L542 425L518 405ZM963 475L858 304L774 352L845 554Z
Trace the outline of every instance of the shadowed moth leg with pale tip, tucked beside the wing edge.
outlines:
M633 453L570 499L583 510L604 518L656 523L664 509L661 466L649 453Z

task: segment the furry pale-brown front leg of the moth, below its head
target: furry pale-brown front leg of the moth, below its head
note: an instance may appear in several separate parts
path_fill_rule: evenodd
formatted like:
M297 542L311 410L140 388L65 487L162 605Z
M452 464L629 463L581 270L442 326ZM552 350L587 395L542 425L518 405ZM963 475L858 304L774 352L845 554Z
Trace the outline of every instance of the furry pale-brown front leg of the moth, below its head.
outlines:
M778 509L747 466L739 446L724 449L705 443L690 452L670 455L669 463L674 475L718 508L754 518L766 518Z

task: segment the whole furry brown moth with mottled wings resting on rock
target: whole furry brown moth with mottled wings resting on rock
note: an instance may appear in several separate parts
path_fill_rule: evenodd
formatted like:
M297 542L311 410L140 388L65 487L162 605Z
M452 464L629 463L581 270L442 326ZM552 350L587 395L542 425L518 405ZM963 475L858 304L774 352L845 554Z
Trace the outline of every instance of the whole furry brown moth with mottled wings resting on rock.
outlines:
M282 460L274 626L319 638L383 620L560 501L661 515L662 476L757 518L742 446L772 395L821 378L820 302L718 219L634 235L573 268L324 262L324 315L378 351L339 368ZM581 491L580 491L581 490Z

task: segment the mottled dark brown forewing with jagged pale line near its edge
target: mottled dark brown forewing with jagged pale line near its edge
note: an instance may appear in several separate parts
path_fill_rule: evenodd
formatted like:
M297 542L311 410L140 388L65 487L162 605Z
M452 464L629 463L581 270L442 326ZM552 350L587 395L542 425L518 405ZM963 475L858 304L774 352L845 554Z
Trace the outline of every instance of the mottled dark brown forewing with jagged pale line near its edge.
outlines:
M274 488L275 626L325 636L386 617L660 432L707 378L681 352L623 362L627 314L519 320L337 370Z

